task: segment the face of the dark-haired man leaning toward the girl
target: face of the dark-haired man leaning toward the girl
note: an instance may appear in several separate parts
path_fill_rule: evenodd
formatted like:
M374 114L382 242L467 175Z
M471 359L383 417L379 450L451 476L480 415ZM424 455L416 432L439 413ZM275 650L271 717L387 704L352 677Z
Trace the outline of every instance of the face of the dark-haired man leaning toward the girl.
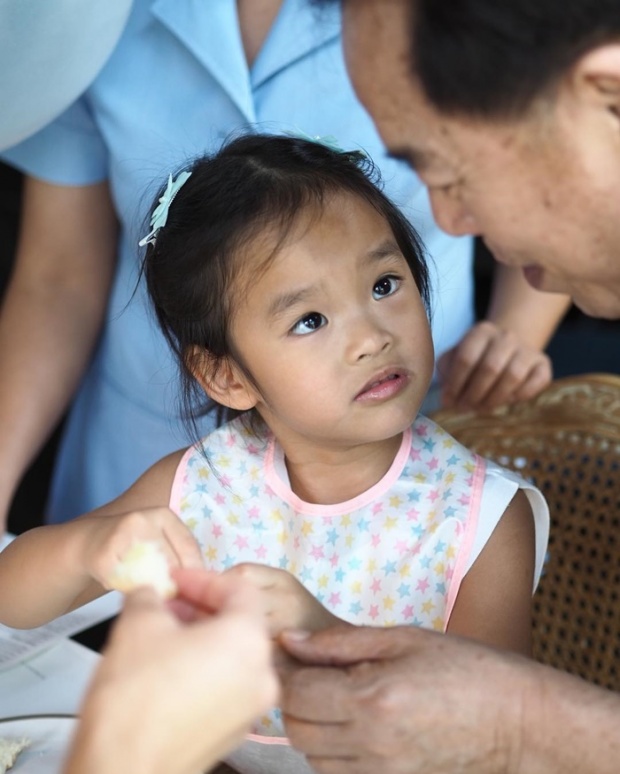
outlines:
M587 314L620 317L613 116L568 85L517 122L440 114L412 75L409 5L347 0L345 53L358 96L389 151L427 185L439 226L479 235L539 290L569 293Z

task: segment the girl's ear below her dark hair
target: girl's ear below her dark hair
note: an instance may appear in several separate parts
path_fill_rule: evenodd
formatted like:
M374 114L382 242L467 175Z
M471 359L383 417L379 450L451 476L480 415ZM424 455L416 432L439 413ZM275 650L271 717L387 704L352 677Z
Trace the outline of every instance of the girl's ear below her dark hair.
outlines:
M194 347L187 366L207 395L221 406L247 411L256 405L256 390L229 358L218 362L205 349Z

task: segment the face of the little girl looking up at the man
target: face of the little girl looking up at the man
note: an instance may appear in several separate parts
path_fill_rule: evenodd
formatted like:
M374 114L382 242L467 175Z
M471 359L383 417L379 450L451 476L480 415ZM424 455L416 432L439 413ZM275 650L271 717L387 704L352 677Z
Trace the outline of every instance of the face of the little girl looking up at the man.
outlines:
M272 247L248 259L238 280L231 332L256 383L240 376L248 404L285 452L393 439L426 394L433 346L389 225L342 194L302 219L265 265Z

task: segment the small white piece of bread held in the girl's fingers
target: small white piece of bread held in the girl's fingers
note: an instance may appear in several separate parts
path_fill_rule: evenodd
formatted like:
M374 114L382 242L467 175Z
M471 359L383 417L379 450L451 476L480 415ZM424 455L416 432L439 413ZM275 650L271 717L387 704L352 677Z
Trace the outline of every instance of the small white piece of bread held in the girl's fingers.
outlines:
M134 543L118 562L108 582L111 588L125 594L139 586L152 586L164 599L174 597L177 592L166 556L154 540Z

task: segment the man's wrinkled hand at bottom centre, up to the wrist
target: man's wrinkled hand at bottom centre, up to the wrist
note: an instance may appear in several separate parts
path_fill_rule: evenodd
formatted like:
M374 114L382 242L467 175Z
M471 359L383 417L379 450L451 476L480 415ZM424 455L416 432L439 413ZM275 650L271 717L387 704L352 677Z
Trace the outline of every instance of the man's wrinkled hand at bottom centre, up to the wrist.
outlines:
M518 770L530 662L414 627L280 641L299 662L282 668L286 732L317 772Z

